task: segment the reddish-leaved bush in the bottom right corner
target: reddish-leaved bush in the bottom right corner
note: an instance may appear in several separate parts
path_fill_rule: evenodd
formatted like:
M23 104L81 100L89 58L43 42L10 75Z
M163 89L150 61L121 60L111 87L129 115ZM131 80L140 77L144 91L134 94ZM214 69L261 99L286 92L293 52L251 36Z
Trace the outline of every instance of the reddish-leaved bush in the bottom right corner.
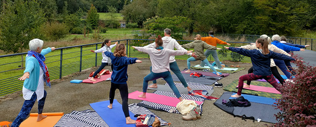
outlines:
M297 55L294 58L298 58ZM298 69L295 78L281 87L282 97L277 99L278 123L272 126L316 125L316 68L294 61Z

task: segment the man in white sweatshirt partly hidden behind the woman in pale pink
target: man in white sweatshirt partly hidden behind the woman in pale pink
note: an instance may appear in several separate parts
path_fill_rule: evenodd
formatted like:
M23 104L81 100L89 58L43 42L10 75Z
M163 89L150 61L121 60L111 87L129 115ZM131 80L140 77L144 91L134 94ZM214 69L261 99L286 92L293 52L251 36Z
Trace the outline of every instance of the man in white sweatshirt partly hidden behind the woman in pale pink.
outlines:
M179 45L179 43L171 38L171 29L169 28L166 28L164 30L164 33L165 33L165 37L162 38L164 44L163 44L163 47L164 48L167 48L167 49L170 49L170 50L174 50L174 48L176 48L177 50L183 50L183 51L188 51L186 50L185 48L182 48L181 45ZM144 46L144 48L155 48L156 47L156 44L155 42L147 45L147 46ZM188 53L188 55L191 55L193 57L197 57L195 55L195 53ZM187 81L186 79L182 76L182 73L178 67L178 64L177 62L175 61L174 59L174 55L170 56L169 58L169 66L170 66L170 70L179 78L179 80L181 81L182 85L185 86L188 91L192 90L188 84L187 84ZM151 67L150 67L150 72L151 71ZM149 86L149 87L152 87L152 88L156 88L157 87L157 81L156 80L153 80L153 85Z

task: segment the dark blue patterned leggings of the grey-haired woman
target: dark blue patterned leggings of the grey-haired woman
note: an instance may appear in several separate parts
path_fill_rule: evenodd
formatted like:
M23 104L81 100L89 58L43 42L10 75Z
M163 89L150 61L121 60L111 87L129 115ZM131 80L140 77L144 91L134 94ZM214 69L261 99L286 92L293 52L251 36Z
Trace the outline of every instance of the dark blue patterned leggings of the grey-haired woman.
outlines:
M38 101L38 114L42 114L43 112L46 95L47 95L47 92L44 90L44 97ZM24 104L22 106L20 113L12 122L12 125L11 125L12 127L15 127L15 126L18 127L22 123L23 120L27 119L36 101L36 98L37 98L36 93L34 92L30 100L24 101Z

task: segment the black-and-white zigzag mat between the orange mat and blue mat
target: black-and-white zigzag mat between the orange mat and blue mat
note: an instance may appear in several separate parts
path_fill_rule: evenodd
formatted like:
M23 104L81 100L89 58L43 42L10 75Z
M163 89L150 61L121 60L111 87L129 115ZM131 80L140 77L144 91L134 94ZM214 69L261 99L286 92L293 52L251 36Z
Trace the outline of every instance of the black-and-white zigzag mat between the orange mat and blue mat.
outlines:
M63 115L54 127L64 126L95 126L109 127L109 125L95 111L72 111Z

